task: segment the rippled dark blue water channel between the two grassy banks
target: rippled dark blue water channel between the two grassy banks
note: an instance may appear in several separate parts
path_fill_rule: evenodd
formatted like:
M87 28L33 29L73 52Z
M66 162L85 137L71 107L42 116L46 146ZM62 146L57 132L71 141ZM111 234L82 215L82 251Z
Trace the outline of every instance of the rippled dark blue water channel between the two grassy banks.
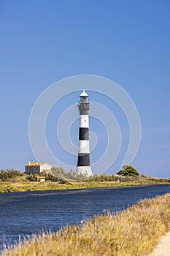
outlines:
M140 199L170 192L170 185L68 189L0 194L0 250L18 236L79 224L95 214L121 211Z

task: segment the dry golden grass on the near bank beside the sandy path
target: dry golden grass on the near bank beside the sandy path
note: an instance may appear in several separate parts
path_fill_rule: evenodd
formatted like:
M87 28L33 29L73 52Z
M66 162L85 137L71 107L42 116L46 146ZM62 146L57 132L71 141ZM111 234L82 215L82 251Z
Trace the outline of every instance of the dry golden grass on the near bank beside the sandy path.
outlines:
M3 256L31 255L149 255L163 233L170 230L170 194L107 217L99 216L80 227L70 225L56 234L24 241Z

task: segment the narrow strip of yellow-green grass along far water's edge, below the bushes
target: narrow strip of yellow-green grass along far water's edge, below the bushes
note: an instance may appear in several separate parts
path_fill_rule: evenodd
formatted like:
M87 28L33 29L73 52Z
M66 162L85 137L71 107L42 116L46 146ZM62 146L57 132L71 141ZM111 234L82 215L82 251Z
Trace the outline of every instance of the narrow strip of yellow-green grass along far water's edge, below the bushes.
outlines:
M141 185L170 184L169 179L161 178L139 178L128 182L118 181L0 181L0 192L26 192L36 190L58 190L58 189L85 189L91 187L133 187Z

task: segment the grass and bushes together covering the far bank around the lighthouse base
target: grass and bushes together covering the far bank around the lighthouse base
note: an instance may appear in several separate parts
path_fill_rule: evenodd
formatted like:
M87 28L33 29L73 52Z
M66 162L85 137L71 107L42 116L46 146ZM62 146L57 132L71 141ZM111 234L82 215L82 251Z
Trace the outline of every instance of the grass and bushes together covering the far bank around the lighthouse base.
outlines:
M45 182L37 182L37 175L27 176L19 170L0 170L0 192L24 192L33 190L85 189L89 187L128 187L150 184L170 184L168 178L152 178L139 175L106 174L86 177L73 170L66 172L62 167L53 167L50 173L41 173Z

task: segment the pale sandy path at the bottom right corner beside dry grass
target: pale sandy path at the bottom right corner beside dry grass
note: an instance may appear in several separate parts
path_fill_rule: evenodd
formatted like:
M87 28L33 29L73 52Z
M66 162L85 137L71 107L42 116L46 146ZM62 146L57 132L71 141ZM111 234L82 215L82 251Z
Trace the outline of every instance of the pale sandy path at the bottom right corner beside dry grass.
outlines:
M170 232L161 237L150 256L170 256Z

